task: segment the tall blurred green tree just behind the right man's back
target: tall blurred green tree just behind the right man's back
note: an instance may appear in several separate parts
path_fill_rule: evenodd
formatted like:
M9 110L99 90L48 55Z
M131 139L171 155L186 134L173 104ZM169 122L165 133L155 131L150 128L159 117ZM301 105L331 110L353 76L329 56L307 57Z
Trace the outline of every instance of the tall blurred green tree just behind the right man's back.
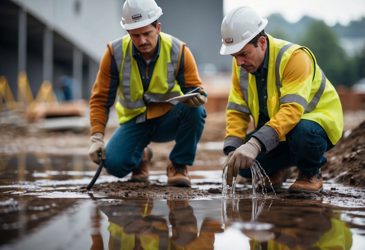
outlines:
M336 33L322 20L313 20L299 44L314 53L318 65L334 86L353 85L349 78L352 63L340 46Z

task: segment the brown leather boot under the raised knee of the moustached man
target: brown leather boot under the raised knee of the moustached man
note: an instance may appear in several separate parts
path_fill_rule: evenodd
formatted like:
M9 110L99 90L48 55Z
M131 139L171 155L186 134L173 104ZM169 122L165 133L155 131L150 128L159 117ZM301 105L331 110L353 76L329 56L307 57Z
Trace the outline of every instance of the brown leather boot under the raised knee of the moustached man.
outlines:
M186 165L170 163L167 166L167 185L174 187L191 187Z

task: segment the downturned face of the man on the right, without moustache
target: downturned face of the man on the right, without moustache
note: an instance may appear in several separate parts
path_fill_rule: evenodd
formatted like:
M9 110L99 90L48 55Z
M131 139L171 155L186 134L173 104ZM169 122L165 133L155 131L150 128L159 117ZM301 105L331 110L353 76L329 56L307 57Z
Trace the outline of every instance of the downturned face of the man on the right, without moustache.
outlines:
M266 39L261 36L257 44L257 47L253 44L246 44L242 50L231 54L236 58L237 66L241 66L248 73L255 73L264 64Z

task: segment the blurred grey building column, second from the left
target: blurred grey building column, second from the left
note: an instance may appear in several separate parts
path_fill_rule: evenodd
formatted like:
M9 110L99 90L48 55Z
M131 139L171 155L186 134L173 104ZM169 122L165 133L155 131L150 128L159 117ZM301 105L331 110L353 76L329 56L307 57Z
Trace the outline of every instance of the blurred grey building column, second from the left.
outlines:
M43 81L53 82L53 32L46 27L43 33Z

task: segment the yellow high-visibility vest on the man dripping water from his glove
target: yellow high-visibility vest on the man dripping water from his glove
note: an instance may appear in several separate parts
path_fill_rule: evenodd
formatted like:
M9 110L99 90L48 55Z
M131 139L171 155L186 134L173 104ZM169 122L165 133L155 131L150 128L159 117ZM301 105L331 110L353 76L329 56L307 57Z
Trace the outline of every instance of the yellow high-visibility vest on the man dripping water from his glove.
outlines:
M323 71L318 66L313 53L306 47L292 44L284 40L273 38L266 34L269 39L269 65L267 79L267 108L269 118L274 117L285 103L292 103L303 108L301 119L317 122L326 131L332 144L336 144L342 136L343 114L342 106L334 86L328 81ZM292 53L298 48L302 48L309 55L313 69L306 82L283 86L283 72ZM227 104L227 117L229 113L243 113L253 117L255 128L258 124L259 101L255 76L247 73L245 69L237 66L233 59L233 74L239 79L239 86L232 87ZM235 125L234 116L229 122ZM288 117L290 119L290 117ZM286 121L280 121L285 123ZM247 126L246 126L247 128ZM276 128L278 129L278 128ZM280 128L279 128L280 129ZM228 133L229 131L227 131ZM280 130L278 131L280 134ZM282 134L282 133L281 133ZM227 141L242 141L240 138L226 138ZM285 141L285 134L280 138ZM244 142L244 141L243 141ZM274 142L275 143L275 142ZM277 144L279 141L276 142ZM229 144L229 143L228 143ZM276 144L276 145L277 145ZM272 145L272 148L276 147ZM270 147L270 149L272 149Z

